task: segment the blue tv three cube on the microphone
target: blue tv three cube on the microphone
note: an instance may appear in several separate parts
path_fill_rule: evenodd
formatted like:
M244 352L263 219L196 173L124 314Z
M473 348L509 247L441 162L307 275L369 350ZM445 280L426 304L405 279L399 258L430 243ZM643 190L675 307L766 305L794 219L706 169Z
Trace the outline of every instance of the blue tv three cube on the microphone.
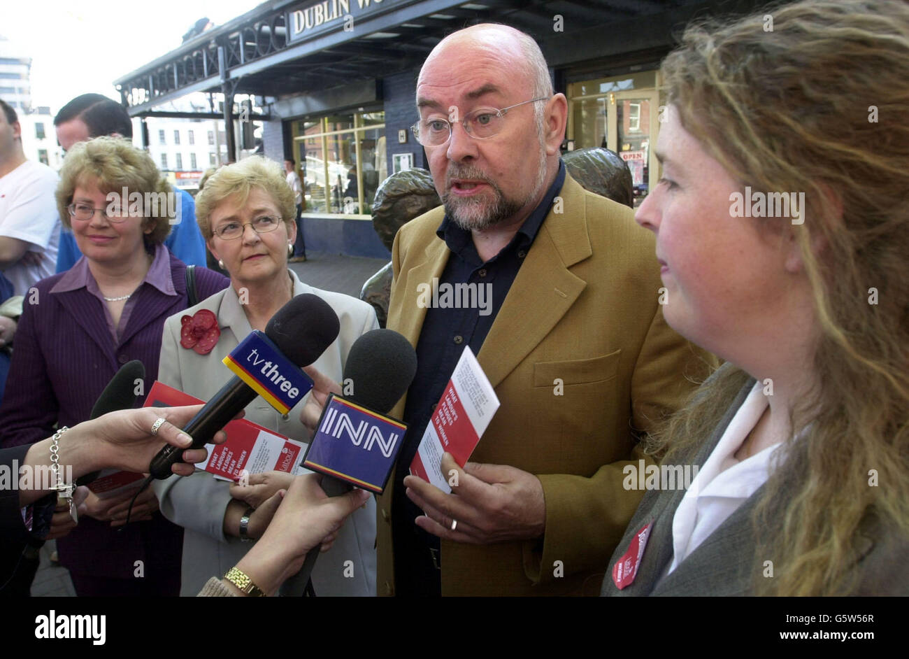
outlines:
M290 412L313 388L309 376L259 330L253 330L241 341L224 363L281 414Z

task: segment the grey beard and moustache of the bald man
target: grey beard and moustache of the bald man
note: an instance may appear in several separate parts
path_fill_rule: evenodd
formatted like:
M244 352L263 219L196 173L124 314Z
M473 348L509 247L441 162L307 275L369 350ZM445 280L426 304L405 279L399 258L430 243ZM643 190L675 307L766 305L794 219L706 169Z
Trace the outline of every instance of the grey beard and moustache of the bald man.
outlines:
M483 231L514 217L524 206L533 202L543 189L543 185L546 182L545 155L545 147L541 144L540 166L537 169L536 181L533 189L523 199L509 199L506 197L499 186L495 185L479 167L449 163L446 173L445 195L442 195L445 215L451 217L454 220L454 224L460 226L464 231ZM475 197L452 195L451 180L453 178L482 181L484 184L489 185L493 192L492 203L490 204L487 199L482 198L482 195Z

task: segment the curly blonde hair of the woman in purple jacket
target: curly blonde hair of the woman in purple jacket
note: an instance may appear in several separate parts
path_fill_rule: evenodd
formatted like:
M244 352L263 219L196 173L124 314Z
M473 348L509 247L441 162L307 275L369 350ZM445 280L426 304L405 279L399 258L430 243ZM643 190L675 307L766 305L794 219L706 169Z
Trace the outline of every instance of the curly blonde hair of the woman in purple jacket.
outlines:
M145 249L153 251L154 245L165 242L180 200L145 151L121 137L96 137L73 145L66 152L56 189L57 212L67 229L73 225L66 206L73 203L75 188L91 185L96 185L105 195L116 194L118 205L124 190L127 195L127 199L122 200L124 204L129 203L129 196L141 195L144 200L140 215L142 228L152 228L151 233L145 234Z

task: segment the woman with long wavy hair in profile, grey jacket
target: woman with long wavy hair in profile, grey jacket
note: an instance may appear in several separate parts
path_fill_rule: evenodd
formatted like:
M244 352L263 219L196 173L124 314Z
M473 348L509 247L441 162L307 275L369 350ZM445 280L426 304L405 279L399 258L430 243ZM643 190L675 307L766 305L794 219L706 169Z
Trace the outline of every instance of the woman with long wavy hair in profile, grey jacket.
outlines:
M696 24L662 67L666 321L727 360L604 594L909 593L909 5ZM643 551L643 554L642 554Z

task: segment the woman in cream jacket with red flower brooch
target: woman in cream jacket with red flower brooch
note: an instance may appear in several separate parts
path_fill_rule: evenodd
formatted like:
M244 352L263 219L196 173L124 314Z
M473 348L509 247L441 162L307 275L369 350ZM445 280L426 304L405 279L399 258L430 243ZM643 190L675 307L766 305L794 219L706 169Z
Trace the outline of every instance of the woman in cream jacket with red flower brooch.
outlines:
M223 167L208 180L195 203L206 243L230 274L231 285L185 314L167 319L158 379L208 400L232 375L222 363L224 357L254 329L264 331L291 295L310 293L324 299L341 324L335 342L313 365L340 382L351 345L361 334L378 327L375 312L349 295L305 285L287 269L296 234L295 205L280 167L259 157ZM181 345L181 317L201 310L214 314L220 328L210 352L205 352L206 341L210 343L214 336L202 339L197 349ZM289 414L279 414L262 397L256 397L246 407L245 418L305 443L309 432L300 423L304 405L305 399ZM261 479L254 474L250 482L257 480ZM288 475L271 472L256 487L259 492L253 503L258 505L248 515L248 537L255 539L264 533L275 505L262 502L290 482ZM203 471L155 482L161 512L185 528L181 594L195 595L209 577L223 576L251 546L239 537L240 519L249 512L248 505L232 497L232 489L237 494L252 488L232 488ZM312 584L317 595L375 594L374 499L347 520L332 549L319 558Z

